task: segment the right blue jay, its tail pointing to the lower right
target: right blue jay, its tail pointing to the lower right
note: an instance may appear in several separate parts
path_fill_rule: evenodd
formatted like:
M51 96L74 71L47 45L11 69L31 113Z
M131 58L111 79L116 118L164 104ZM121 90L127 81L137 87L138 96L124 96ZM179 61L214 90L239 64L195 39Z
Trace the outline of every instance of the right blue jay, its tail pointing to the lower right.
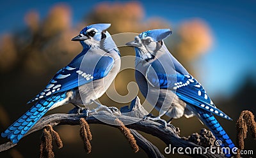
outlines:
M140 91L159 111L158 117L144 119L160 120L166 126L161 119L163 115L171 118L168 123L182 115L187 118L196 115L223 142L223 147L234 148L214 115L232 119L212 103L202 85L170 54L163 42L170 34L170 29L145 31L126 43L135 48L135 77Z

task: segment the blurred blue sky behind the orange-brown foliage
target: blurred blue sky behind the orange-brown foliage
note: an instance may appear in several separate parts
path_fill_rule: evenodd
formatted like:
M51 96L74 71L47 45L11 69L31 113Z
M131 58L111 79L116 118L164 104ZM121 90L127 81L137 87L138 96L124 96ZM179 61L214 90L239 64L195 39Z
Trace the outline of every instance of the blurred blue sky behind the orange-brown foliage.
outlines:
M60 2L72 9L75 25L100 1L1 1L0 35L22 29L24 15L29 10L37 10L40 18L44 18L52 5ZM198 80L211 96L230 96L248 77L256 83L256 1L141 1L141 4L146 18L165 18L174 28L196 17L211 27L214 44L195 64Z

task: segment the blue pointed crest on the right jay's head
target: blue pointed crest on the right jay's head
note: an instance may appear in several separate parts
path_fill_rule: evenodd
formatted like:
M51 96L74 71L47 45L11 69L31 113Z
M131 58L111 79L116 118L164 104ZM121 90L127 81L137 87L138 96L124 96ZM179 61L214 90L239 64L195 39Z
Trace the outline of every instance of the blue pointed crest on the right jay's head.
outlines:
M139 34L139 38L143 39L149 36L154 39L154 41L161 41L170 36L170 34L172 34L172 31L170 31L170 29L154 29L142 32L141 34Z

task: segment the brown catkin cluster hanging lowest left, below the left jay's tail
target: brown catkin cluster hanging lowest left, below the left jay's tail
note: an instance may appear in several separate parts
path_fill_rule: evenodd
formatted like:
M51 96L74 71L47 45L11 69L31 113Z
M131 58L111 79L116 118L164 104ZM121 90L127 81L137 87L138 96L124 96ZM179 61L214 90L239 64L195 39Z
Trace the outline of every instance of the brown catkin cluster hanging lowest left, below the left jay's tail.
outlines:
M63 144L60 139L60 135L52 129L51 125L44 127L41 142L40 142L40 158L43 157L54 157L54 152L52 152L52 140L55 141L58 148L62 148Z

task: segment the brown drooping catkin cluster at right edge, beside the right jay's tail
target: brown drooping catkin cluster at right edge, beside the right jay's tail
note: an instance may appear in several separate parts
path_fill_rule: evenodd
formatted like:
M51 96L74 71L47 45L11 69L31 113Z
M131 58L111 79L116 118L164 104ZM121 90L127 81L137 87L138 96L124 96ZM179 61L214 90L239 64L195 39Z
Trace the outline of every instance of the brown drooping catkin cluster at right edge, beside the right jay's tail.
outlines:
M241 112L239 119L236 122L237 129L237 157L240 157L240 150L244 149L244 139L247 136L248 129L252 133L252 137L256 138L256 123L254 120L254 115L251 111L244 110Z

